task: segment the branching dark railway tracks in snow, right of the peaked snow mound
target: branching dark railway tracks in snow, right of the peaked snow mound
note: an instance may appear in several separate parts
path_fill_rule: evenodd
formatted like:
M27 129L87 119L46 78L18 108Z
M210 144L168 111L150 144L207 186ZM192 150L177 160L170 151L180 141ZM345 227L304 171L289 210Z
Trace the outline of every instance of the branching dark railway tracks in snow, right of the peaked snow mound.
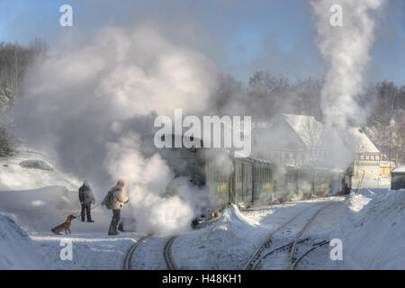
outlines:
M280 232L281 230L283 230L288 224L290 224L291 222L293 222L293 220L297 219L300 215L302 215L302 213L304 213L305 211L309 211L312 207L309 207L307 209L304 209L302 211L300 211L299 213L297 213L293 218L291 218L290 220L286 221L282 226L280 226L279 228L275 229L275 231L273 231L267 238L266 240L259 246L257 247L257 249L255 250L255 252L253 253L253 255L247 260L247 263L245 264L245 266L242 267L243 270L256 270L257 267L260 265L260 263L266 259L266 257L269 257L271 255L274 255L275 252L278 251L282 251L282 250L289 250L289 256L288 256L288 260L287 260L287 269L288 270L293 270L295 268L295 266L302 260L303 257L305 257L306 255L308 255L309 253L311 253L311 251L313 251L314 249L316 249L318 246L315 247L311 247L310 250L308 250L306 253L304 253L304 255L302 255L302 257L298 257L295 258L295 252L296 252L296 248L298 244L302 244L306 241L309 241L309 238L304 238L301 239L302 234L305 232L306 229L308 229L308 227L311 225L311 222L318 216L318 214L320 213L320 211L328 208L329 206L333 205L335 203L329 203L326 205L323 205L322 207L320 207L317 211L315 211L312 215L311 218L309 220L306 221L304 227L300 230L300 232L297 233L297 235L295 236L294 240L288 244L284 244L280 247L276 247L275 249L271 250L268 253L264 253L268 248L270 248L273 244L274 241L274 235L277 232ZM321 243L324 243L325 241L322 241ZM329 242L328 242L329 243Z

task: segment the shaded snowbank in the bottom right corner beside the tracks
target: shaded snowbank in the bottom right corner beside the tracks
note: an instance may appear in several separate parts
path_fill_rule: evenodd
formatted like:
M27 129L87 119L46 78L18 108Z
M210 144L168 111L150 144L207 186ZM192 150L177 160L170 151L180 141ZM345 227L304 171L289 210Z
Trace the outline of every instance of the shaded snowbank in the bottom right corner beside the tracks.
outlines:
M344 254L331 268L405 269L405 190L352 194L333 237Z

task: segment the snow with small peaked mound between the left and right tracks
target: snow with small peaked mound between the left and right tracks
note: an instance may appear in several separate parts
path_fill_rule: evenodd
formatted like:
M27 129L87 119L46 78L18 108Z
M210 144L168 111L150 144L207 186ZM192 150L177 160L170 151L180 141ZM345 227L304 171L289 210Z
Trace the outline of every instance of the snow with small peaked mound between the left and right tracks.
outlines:
M211 226L182 235L175 240L173 253L176 266L186 269L241 269L268 235L294 215L302 212L300 217L275 235L276 241L292 239L317 207L329 202L338 203L341 199L342 197L333 197L289 202L248 211L239 211L237 206L232 205L224 211L220 220ZM323 220L315 225L312 234L320 236L329 231L325 228L327 223L333 222L330 215L325 213L320 216ZM192 257L189 254L192 254Z

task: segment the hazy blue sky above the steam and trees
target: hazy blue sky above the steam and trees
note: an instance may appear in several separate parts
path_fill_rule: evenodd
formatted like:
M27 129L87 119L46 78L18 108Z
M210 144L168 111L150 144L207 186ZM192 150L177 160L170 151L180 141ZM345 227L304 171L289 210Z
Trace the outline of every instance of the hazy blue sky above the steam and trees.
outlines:
M58 24L62 4L73 6L73 28ZM325 72L306 0L0 0L0 11L4 41L38 36L55 47L69 33L154 21L242 81L257 69L292 79ZM378 23L367 75L405 85L405 1L388 1Z

